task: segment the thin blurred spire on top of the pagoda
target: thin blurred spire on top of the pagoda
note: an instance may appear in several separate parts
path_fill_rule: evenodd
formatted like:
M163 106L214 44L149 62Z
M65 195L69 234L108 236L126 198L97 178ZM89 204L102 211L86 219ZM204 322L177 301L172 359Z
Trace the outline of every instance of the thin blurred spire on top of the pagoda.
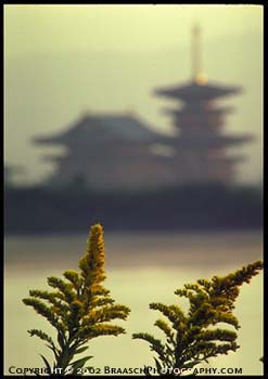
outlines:
M192 69L193 81L197 84L202 84L206 81L205 76L202 73L202 51L201 51L201 27L195 24L192 28Z

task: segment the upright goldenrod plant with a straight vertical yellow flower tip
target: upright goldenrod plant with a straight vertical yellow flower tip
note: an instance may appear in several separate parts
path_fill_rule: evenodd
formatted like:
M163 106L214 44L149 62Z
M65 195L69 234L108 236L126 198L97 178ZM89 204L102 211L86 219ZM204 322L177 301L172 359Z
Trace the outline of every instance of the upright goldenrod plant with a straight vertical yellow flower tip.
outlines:
M79 262L79 273L65 271L65 279L48 277L48 284L54 291L30 290L30 297L23 299L24 304L34 308L56 329L58 343L42 330L28 330L30 336L39 337L52 350L52 364L41 355L50 373L60 368L62 375L76 375L92 356L77 360L75 355L85 352L91 339L125 332L123 327L110 324L112 319L126 319L130 310L115 304L110 291L102 286L105 257L100 224L91 227L87 243L87 253Z

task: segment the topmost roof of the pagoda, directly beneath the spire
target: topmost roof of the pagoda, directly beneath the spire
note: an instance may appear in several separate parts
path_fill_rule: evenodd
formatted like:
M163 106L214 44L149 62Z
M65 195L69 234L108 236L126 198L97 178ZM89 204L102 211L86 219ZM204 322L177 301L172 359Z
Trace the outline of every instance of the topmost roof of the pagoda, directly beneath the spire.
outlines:
M216 82L199 83L189 81L182 86L155 89L154 93L159 96L174 97L184 102L209 101L216 97L237 94L242 91L241 87L228 87Z

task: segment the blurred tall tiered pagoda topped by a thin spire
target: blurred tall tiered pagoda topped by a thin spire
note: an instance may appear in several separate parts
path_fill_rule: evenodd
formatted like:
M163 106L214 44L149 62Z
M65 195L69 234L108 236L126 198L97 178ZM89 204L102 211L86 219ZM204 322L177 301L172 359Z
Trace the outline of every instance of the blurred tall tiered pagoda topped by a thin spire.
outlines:
M174 139L177 155L174 160L178 183L222 182L235 179L235 164L241 155L229 155L227 148L252 140L252 135L226 135L225 115L230 106L218 106L220 97L242 92L240 87L209 82L201 69L201 29L192 31L192 79L182 86L156 89L155 94L180 102L180 106L165 109L171 115L173 125L179 131Z

